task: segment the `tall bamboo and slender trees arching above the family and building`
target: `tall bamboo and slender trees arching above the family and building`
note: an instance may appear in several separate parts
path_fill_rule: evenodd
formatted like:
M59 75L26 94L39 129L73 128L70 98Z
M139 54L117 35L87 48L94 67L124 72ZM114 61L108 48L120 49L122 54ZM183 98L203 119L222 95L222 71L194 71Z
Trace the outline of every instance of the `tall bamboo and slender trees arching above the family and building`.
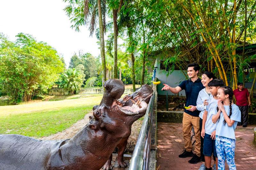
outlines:
M102 81L106 81L106 52L114 54L117 78L117 38L124 39L134 67L141 66L141 84L146 67L157 55L165 60L170 74L188 63L197 62L203 71L212 71L226 85L235 88L239 77L255 59L245 46L256 41L255 0L65 0L64 9L72 27L87 25L100 39ZM106 22L106 18L110 21ZM108 39L104 42L104 33ZM106 44L106 47L105 47ZM114 48L113 48L114 47ZM243 53L236 49L243 47ZM113 54L112 51L114 50ZM154 60L153 60L154 61ZM239 76L240 75L240 76ZM254 79L255 80L255 79ZM255 83L255 82L254 82Z

